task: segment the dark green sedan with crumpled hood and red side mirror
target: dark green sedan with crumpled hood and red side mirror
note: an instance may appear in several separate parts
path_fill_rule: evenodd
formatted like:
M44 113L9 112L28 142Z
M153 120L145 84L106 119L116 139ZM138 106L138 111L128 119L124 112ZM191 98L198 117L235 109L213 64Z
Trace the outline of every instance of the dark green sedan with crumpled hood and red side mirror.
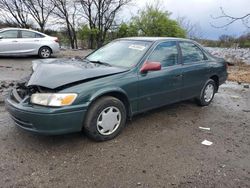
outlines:
M194 41L123 38L82 59L33 62L5 104L27 131L105 141L138 113L192 98L209 105L226 79L227 63Z

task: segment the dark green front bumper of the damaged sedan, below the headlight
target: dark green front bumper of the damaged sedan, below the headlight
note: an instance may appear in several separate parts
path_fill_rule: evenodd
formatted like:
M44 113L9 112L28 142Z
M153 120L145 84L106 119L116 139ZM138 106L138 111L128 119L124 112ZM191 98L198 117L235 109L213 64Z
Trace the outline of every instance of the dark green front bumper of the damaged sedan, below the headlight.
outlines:
M5 107L18 127L44 135L82 130L88 104L51 108L32 105L27 98L18 101L15 95L16 92L10 93L5 100Z

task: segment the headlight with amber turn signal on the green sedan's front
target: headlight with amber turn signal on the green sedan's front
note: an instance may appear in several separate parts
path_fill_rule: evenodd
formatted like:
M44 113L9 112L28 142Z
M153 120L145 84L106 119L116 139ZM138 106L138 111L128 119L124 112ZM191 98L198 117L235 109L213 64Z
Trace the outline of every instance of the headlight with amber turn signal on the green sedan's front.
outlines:
M35 93L31 96L31 103L43 106L68 106L77 97L75 93Z

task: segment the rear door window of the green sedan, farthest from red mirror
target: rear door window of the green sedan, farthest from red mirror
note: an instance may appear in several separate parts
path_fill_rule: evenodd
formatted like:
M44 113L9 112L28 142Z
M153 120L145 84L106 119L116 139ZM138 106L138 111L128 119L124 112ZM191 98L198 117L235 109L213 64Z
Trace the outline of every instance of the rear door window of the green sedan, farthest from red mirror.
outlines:
M204 53L195 44L191 42L180 42L179 45L181 48L182 60L184 64L205 60Z

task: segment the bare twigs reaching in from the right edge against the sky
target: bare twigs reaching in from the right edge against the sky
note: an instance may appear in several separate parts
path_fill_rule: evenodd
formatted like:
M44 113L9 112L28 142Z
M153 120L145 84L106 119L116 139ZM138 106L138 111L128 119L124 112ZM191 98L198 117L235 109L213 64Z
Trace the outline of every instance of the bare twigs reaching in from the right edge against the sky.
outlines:
M250 23L249 23L249 19L250 19L250 13L247 13L243 16L231 16L229 14L227 14L224 9L222 7L220 7L220 11L221 11L221 15L220 16L213 16L211 15L211 17L214 20L225 20L225 24L223 25L215 25L215 24L211 24L213 27L215 28L225 28L231 24L233 24L236 21L241 21L243 23L243 25L245 25L247 28L250 28Z

